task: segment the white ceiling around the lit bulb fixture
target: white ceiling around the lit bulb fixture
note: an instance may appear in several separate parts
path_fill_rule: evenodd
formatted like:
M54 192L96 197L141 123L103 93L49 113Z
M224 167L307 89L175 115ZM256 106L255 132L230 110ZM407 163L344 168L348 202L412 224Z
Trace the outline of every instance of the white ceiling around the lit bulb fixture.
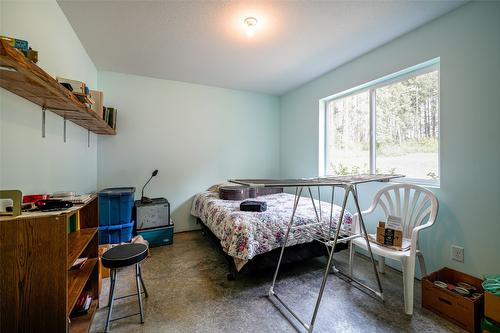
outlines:
M464 2L58 3L99 70L281 95Z

